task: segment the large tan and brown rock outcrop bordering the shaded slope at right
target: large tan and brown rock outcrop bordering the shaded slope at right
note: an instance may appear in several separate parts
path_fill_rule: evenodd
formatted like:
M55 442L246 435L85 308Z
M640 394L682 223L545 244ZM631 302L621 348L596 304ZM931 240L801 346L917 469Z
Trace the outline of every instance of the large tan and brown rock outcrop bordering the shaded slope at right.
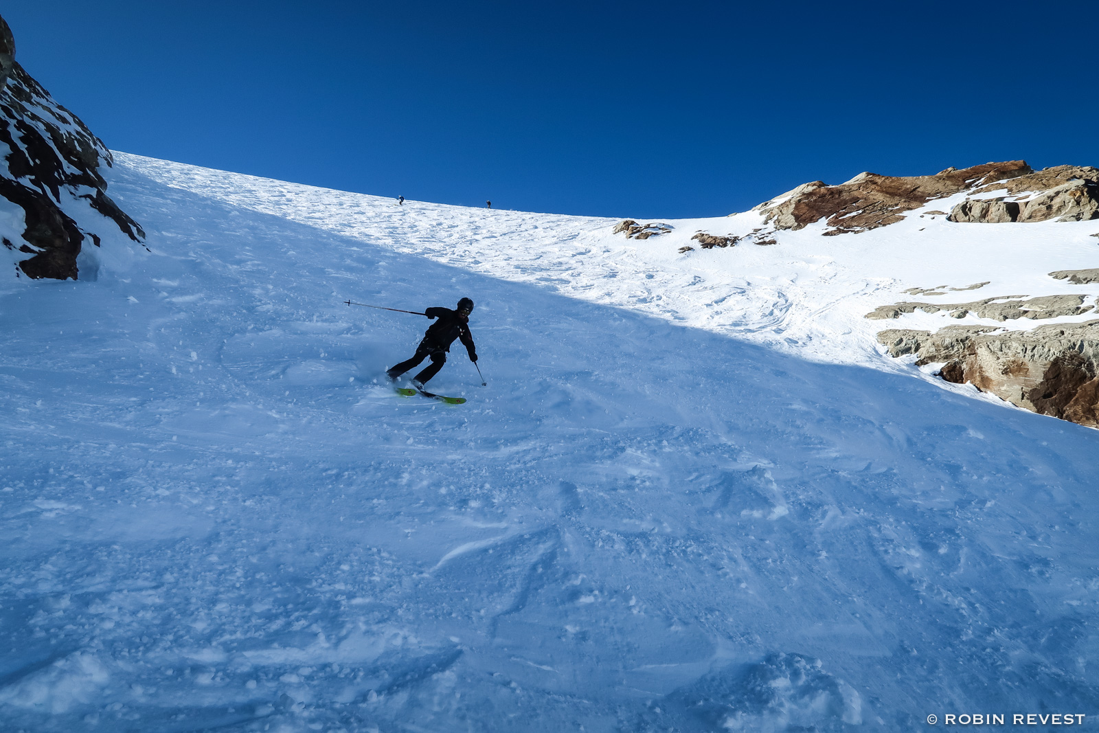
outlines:
M972 382L1012 404L1099 427L1099 321L996 333L995 326L891 329L878 341L892 356L942 363L940 375Z

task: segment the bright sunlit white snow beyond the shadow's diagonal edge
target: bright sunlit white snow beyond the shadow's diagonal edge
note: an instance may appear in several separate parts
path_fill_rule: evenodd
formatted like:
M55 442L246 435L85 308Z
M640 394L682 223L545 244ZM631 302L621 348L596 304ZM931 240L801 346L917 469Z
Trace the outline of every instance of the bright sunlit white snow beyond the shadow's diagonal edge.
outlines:
M670 234L626 240L611 234L618 219L532 214L396 200L273 181L184 164L115 154L124 165L167 186L213 196L234 207L381 244L491 277L531 282L600 304L625 307L682 325L765 344L803 358L862 364L912 374L881 358L875 334L885 327L943 325L1030 329L1022 323L946 312L899 321L864 315L897 301L966 302L996 296L1085 293L1097 288L1048 277L1095 267L1096 222L1026 225L954 224L941 214L965 193L928 202L902 222L857 235L820 236L823 222L777 234L778 246L746 243L701 249L696 232L744 236L769 231L756 212L660 221ZM997 192L990 192L993 196ZM770 235L767 235L768 237ZM682 246L693 252L679 254ZM911 287L989 285L944 296L913 296ZM1055 321L1087 321L1094 312ZM942 381L937 381L940 386Z

